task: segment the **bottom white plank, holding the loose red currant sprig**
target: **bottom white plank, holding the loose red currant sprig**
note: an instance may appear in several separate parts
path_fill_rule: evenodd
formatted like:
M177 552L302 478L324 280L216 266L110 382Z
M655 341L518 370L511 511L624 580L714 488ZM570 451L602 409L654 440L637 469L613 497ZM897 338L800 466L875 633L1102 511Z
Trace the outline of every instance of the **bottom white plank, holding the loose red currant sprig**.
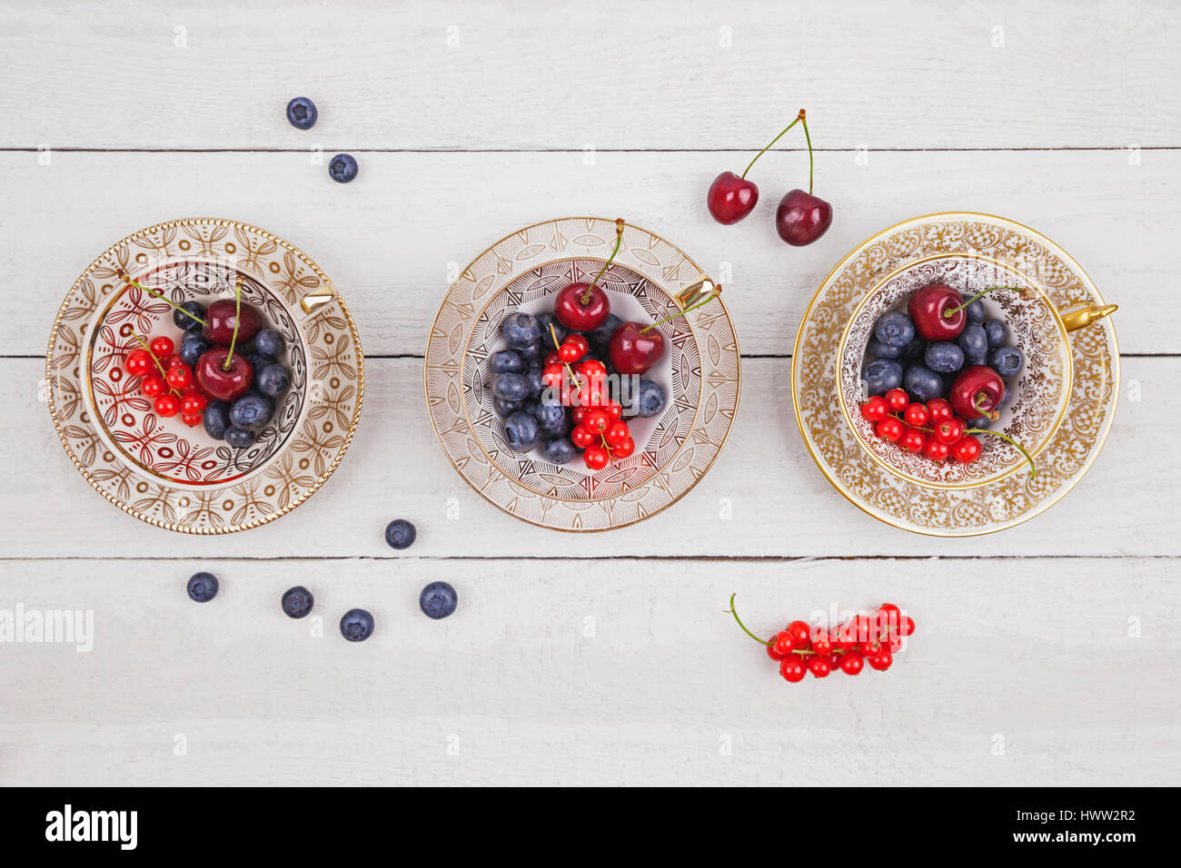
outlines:
M1154 785L1181 762L1176 560L0 569L0 609L93 612L89 653L0 646L9 784ZM445 621L417 609L435 580ZM279 608L296 583L322 638ZM916 631L887 672L789 685L731 592L758 633L887 600ZM354 606L360 645L335 627Z

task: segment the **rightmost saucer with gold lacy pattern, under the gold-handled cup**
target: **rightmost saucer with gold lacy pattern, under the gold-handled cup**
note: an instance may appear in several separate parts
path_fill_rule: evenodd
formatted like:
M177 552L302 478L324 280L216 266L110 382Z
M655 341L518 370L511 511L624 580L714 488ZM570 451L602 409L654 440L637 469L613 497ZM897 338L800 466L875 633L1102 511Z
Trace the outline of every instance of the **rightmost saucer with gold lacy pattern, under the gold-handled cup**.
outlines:
M972 536L1032 518L1083 478L1115 416L1120 350L1110 318L1096 319L1070 334L1074 380L1069 404L1040 450L1033 478L1016 472L974 488L933 489L892 472L883 462L869 461L840 405L837 378L846 325L887 275L946 256L986 257L1030 275L1072 324L1079 319L1071 316L1072 308L1098 309L1104 305L1078 263L1029 227L985 214L915 217L862 243L821 283L796 335L791 391L804 444L844 497L902 530Z

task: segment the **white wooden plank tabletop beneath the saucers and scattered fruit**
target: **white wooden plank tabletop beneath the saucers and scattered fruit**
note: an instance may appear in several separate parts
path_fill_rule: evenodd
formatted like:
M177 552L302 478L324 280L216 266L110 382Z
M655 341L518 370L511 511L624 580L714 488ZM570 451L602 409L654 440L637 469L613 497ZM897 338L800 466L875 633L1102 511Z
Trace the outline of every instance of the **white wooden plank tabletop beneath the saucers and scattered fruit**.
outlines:
M94 647L0 645L0 783L1177 783L1181 9L1122 4L0 1L0 608L92 609ZM391 8L391 6L393 6ZM283 106L306 94L318 125ZM704 208L800 106L831 230ZM347 150L350 185L308 149ZM978 210L1072 253L1116 314L1123 392L1088 477L991 536L863 515L804 450L788 355L831 265L918 214ZM456 263L552 216L625 216L731 263L739 413L674 508L560 535L487 504L423 402ZM162 220L227 216L307 250L366 350L357 440L309 503L195 539L104 503L40 380L77 274ZM732 518L719 517L723 498ZM449 515L450 504L450 515ZM456 511L457 510L457 511ZM419 529L406 553L383 528ZM197 569L222 593L197 606ZM432 622L419 588L461 594ZM279 596L313 589L324 637ZM783 683L770 632L892 600L887 673ZM340 639L350 607L377 616Z

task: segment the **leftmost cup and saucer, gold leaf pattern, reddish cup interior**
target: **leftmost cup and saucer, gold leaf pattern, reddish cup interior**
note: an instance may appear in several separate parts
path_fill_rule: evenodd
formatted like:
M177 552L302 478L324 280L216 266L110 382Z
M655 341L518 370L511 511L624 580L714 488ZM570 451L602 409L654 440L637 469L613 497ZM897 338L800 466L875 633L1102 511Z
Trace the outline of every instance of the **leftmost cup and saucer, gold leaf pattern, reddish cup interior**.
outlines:
M286 342L291 389L254 445L231 449L157 416L123 368L138 338L178 340L172 301L243 298ZM138 335L138 338L137 338ZM46 355L50 412L74 465L99 494L150 524L227 534L265 524L312 496L344 457L364 396L360 341L327 276L281 239L229 220L149 227L94 260L61 305Z

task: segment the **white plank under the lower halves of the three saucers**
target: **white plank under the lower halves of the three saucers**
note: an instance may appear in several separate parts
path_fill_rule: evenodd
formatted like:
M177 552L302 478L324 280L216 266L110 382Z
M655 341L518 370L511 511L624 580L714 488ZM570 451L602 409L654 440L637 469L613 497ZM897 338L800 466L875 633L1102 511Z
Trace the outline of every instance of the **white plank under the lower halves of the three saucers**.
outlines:
M974 539L895 530L849 504L800 440L783 359L748 359L738 417L717 463L679 503L607 534L560 534L488 504L451 468L430 426L422 361L371 360L357 439L332 479L291 515L241 534L197 539L151 528L90 490L37 400L35 360L0 361L4 442L0 556L397 556L383 539L413 521L424 557L1181 555L1181 468L1161 405L1181 381L1181 359L1127 359L1124 400L1103 453L1061 503L1024 526ZM1134 399L1138 398L1138 400ZM452 501L454 498L454 501ZM729 498L732 520L719 518ZM455 520L446 517L457 509ZM474 567L478 569L478 567ZM1117 568L1114 568L1117 572Z

